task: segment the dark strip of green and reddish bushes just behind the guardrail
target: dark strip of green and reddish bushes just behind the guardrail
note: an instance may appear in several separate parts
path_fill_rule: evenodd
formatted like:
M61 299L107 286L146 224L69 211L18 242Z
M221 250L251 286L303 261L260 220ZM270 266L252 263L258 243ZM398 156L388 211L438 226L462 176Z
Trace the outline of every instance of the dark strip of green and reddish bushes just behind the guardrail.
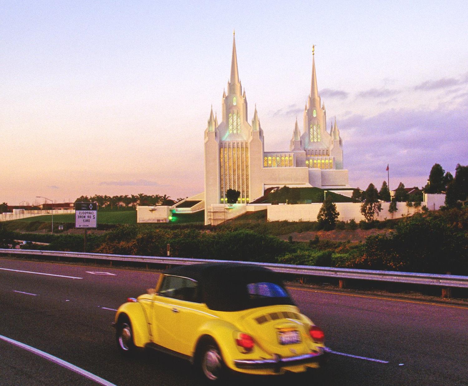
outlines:
M268 233L227 226L200 230L124 225L101 235L89 234L87 251L165 256L170 244L174 257L468 275L467 231L468 209L403 218L392 232L369 236L362 243L318 237L308 243L283 241ZM24 233L13 235L25 240ZM83 251L82 234L29 233L27 237L50 243L34 248Z

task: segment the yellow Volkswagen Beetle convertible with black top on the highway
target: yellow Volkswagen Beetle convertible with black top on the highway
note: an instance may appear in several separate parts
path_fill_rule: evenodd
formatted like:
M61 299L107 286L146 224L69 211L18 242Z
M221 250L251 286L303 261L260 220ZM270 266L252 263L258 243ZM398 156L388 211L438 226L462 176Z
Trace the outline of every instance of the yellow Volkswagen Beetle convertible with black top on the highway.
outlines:
M323 331L300 313L269 269L179 266L147 292L117 310L113 326L124 355L153 348L183 357L212 382L231 371L274 375L322 366Z

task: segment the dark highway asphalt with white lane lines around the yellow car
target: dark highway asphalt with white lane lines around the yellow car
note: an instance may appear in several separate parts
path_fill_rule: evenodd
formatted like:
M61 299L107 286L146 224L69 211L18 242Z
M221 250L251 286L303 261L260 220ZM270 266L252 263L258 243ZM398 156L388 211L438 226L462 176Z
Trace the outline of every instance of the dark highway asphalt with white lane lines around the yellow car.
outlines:
M0 259L0 385L95 384L1 337L116 385L198 385L192 367L181 359L154 352L125 359L117 351L110 326L114 310L154 287L157 278L151 271ZM336 352L329 356L329 384L468 385L467 307L289 291ZM272 377L268 383L296 380L304 384L296 376ZM259 379L243 379L249 381Z

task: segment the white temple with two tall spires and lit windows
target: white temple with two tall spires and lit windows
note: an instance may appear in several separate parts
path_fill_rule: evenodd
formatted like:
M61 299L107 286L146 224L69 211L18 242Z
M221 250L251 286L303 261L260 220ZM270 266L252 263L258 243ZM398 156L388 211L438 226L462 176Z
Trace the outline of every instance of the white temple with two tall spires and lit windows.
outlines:
M247 98L237 69L235 39L227 94L223 93L222 120L211 110L205 130L205 223L212 204L226 202L227 189L241 192L239 203L248 204L274 186L348 188L343 169L343 141L335 123L326 129L312 51L312 84L304 109L302 134L296 120L289 151L265 152L263 130L255 109L248 122Z

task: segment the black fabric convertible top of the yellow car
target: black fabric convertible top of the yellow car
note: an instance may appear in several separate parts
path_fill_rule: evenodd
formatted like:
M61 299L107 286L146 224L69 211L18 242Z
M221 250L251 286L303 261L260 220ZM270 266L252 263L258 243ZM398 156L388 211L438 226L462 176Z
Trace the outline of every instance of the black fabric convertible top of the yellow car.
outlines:
M276 304L294 304L289 296L252 298L247 289L247 284L250 283L274 283L284 288L277 274L254 264L209 262L182 265L163 273L196 280L199 300L216 311L241 311Z

